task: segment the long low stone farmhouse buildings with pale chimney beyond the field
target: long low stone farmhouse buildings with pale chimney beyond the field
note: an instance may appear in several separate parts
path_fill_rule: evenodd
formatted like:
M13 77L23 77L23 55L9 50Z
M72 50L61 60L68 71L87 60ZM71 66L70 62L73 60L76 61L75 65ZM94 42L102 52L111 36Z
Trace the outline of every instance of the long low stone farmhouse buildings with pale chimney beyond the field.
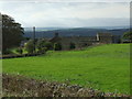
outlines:
M97 33L96 36L59 36L58 33L55 33L55 36L51 38L50 42L59 43L62 45L62 50L65 51L70 50L72 46L80 50L95 44L118 43L119 40L119 36L113 36L110 33Z

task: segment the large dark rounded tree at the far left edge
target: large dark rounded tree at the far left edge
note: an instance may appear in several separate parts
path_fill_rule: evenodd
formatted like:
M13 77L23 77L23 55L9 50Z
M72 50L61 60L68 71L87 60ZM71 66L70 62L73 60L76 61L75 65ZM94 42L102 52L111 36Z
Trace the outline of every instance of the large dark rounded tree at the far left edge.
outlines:
M24 30L13 18L2 14L2 52L19 46L23 38Z

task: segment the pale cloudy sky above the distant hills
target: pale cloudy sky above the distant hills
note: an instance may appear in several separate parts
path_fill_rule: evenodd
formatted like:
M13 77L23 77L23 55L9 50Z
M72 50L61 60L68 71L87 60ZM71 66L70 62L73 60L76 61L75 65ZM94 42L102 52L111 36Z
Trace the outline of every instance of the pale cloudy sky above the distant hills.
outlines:
M0 12L24 28L127 26L130 0L0 0Z

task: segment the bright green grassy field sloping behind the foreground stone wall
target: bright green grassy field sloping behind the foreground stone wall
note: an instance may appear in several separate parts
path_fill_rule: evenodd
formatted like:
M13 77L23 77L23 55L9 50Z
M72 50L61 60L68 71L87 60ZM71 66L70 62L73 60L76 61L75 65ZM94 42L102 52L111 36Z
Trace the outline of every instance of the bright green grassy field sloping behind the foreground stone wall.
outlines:
M3 59L3 73L66 81L102 91L129 94L130 44L109 44L84 51Z

